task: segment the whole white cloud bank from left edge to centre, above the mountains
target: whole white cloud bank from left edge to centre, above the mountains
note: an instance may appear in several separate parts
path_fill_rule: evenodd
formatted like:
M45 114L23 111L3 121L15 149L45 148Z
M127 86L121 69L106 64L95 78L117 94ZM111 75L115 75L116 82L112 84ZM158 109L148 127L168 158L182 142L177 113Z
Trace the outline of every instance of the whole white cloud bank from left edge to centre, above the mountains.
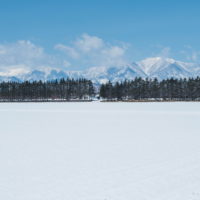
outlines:
M14 76L40 69L83 69L126 63L127 46L124 44L111 44L88 34L69 44L55 45L54 54L46 53L43 47L28 40L0 44L0 76Z

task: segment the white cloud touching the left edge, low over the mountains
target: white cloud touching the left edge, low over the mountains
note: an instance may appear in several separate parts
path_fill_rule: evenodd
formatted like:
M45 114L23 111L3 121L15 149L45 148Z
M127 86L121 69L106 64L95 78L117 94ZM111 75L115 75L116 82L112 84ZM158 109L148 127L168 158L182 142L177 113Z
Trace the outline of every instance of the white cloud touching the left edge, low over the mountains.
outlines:
M0 71L2 74L17 75L34 69L49 69L69 66L64 59L45 53L31 41L0 44Z

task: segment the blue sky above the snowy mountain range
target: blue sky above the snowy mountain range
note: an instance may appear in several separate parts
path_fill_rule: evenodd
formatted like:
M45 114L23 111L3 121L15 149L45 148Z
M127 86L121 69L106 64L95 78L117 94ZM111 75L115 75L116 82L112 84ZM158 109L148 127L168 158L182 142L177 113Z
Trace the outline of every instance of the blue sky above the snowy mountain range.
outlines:
M31 49L32 54L38 48L44 55L27 60L32 59L33 66L48 65L44 60L49 58L52 65L65 63L74 69L98 65L101 59L116 64L111 62L113 52L121 56L118 63L160 55L199 62L199 8L197 0L0 0L0 54L15 60L23 57L20 50ZM100 46L90 49L95 55L77 46L80 41L87 45L87 39L101 40ZM79 56L72 56L70 50ZM19 60L10 65L20 64Z

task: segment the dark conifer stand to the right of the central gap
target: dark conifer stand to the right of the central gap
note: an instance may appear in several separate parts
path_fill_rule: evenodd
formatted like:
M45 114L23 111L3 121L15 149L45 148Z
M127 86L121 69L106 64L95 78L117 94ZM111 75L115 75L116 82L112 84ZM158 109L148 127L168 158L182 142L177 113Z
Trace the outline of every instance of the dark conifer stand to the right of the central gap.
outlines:
M200 77L189 79L142 79L108 82L100 87L100 96L107 100L200 100Z

